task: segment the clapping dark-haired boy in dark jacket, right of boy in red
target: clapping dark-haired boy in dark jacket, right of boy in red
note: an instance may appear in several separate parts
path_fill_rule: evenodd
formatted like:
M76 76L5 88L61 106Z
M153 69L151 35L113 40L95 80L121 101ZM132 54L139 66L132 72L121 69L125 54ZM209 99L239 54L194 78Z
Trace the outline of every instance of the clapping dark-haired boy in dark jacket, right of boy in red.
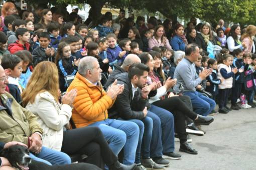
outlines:
M55 50L49 45L50 35L47 32L41 32L38 35L40 46L35 48L32 52L33 64L36 66L42 61L52 61L54 62Z

